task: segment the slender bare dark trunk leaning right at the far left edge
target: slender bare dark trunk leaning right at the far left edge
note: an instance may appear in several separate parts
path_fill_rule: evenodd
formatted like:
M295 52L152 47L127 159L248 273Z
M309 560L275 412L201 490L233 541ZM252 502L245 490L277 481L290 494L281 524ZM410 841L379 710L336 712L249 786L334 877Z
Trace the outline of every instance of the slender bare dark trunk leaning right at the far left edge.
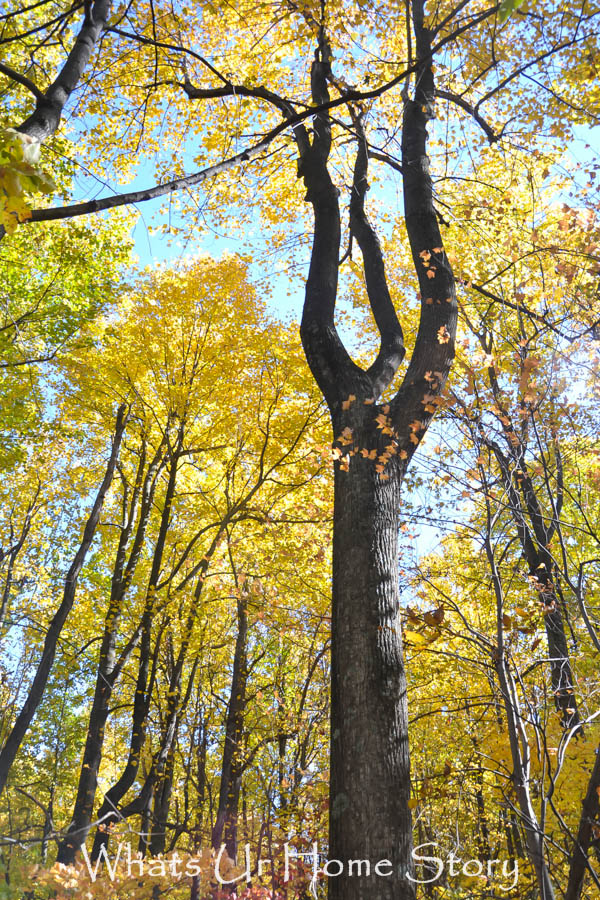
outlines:
M98 494L96 495L96 499L94 500L92 511L85 524L81 543L79 545L77 553L75 554L75 558L71 563L69 571L67 572L62 602L48 627L46 639L44 641L44 648L42 650L42 657L40 659L37 671L33 678L33 682L29 689L27 700L23 704L23 708L17 716L17 720L13 725L12 731L10 732L6 743L2 748L2 751L0 752L0 793L6 785L10 767L14 762L15 756L18 753L19 747L21 746L21 742L23 741L27 729L29 728L32 719L35 716L37 708L41 703L42 697L44 696L48 677L54 663L54 657L56 655L56 647L58 645L60 633L75 601L75 592L77 590L79 573L81 572L91 543L94 539L96 528L100 520L100 513L102 512L102 506L104 504L104 498L106 497L106 493L113 479L117 459L119 456L121 440L123 438L126 424L127 409L124 405L122 405L119 407L119 411L117 413L115 433L113 436L110 457L106 466L106 472L104 478L102 479L102 484L100 485Z

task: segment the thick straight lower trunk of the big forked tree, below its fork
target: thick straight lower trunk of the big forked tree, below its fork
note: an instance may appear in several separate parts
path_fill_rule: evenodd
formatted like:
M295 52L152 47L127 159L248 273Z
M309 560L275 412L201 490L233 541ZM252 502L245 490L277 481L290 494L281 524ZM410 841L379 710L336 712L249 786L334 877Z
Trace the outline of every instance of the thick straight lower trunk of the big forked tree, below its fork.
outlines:
M355 456L335 473L330 900L412 900L406 673L398 596L400 466ZM371 875L349 874L368 859ZM374 867L382 864L375 874ZM337 866L339 868L339 865ZM336 866L331 867L333 875Z

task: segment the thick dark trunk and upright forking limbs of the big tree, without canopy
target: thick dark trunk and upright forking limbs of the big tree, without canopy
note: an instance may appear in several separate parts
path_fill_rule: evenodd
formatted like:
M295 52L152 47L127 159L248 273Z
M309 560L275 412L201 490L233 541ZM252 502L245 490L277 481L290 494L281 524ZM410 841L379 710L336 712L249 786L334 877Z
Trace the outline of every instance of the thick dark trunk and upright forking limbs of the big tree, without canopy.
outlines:
M365 210L367 146L360 115L350 228L363 256L367 294L381 343L363 370L348 355L334 323L340 249L338 191L328 158L331 121L314 118L314 136L295 136L299 174L314 210L314 239L301 325L311 371L334 429L330 859L344 864L328 882L330 900L412 900L412 825L406 673L400 634L398 529L400 488L423 437L454 354L454 279L443 251L426 155L433 115L430 34L422 4L413 8L418 71L405 101L402 173L405 220L421 292L412 359L389 404L402 362L402 329L386 281L377 236ZM328 100L330 54L321 33L312 69L315 104ZM348 875L352 859L390 861L390 875ZM384 871L388 869L384 868Z

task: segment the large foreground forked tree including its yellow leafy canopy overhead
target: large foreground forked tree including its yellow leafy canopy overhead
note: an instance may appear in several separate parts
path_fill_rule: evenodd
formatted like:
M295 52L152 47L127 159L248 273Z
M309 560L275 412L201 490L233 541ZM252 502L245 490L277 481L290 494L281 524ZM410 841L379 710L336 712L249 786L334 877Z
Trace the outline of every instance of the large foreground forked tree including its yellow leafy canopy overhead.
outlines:
M207 5L201 16L190 10L186 16L174 15L170 9L158 9L157 14L154 6L144 6L119 11L110 20L106 7L99 5L97 11L94 7L86 10L81 32L85 52L80 40L47 90L40 91L35 85L32 90L32 84L22 77L14 78L17 70L13 68L17 84L43 95L36 94L38 109L20 126L23 133L50 134L90 59L90 47L100 37L96 26L109 22L107 33L114 41L103 44L100 52L102 71L110 71L111 80L92 78L87 93L88 108L99 120L92 139L96 152L98 148L104 152L114 135L118 118L113 109L130 110L138 103L144 113L141 128L128 128L123 135L117 165L143 139L146 130L152 132L151 126L162 119L165 98L169 100L167 128L161 136L167 146L163 165L169 171L174 169L178 177L167 178L148 191L40 209L34 213L34 220L149 199L191 188L221 174L224 177L213 190L213 208L207 206L206 214L212 212L214 219L222 222L229 215L231 203L237 203L236 211L241 210L242 220L247 221L247 211L242 209L246 185L231 173L252 159L257 172L272 176L271 196L263 196L264 219L289 220L296 209L288 202L289 181L279 175L278 167L280 158L291 161L293 134L300 157L299 174L314 212L302 338L330 408L336 456L330 854L341 859L367 852L389 854L395 867L395 877L383 888L375 886L374 881L368 887L366 882L360 885L358 879L332 880L334 897L340 896L338 892L351 897L353 891L361 890L361 896L378 890L388 891L390 896L398 896L399 890L407 897L413 893L409 883L399 887L398 880L410 868L411 859L404 671L401 642L394 632L399 492L408 463L435 412L454 353L456 325L450 253L444 251L440 235L444 219L437 209L445 200L440 189L434 205L426 126L436 99L438 106L439 101L447 104L450 137L451 128L457 124L455 111L471 117L480 133L465 125L458 169L464 166L468 177L476 179L485 152L483 140L498 144L502 139L501 152L507 154L513 138L533 148L536 132L549 125L556 134L566 135L571 123L584 117L587 107L593 109L595 102L582 90L589 69L586 52L593 54L597 42L594 16L588 17L585 9L575 4L566 11L550 5L543 14L515 7L507 3L500 8L459 3L439 7L426 17L423 4L417 0L407 7L405 21L405 10L392 4L378 5L371 27L368 14L374 9L368 3L350 8L336 3L300 7L282 3L266 11L246 5L238 5L234 11ZM56 27L62 27L71 15L71 11L61 14ZM394 27L384 22L386 16ZM122 27L125 22L129 30ZM47 28L54 25L52 19L46 21ZM353 43L357 37L359 45L364 38L364 54ZM22 30L19 38L29 40L28 32ZM204 41L212 46L212 61L194 49ZM520 47L518 59L515 44ZM280 64L284 46L291 50ZM309 96L305 61L315 46ZM215 65L217 48L224 63L219 68ZM343 73L332 61L332 56L341 51L346 53ZM39 50L41 57L46 52L45 48ZM452 54L462 63L460 74ZM288 72L290 57L293 66ZM133 59L142 74L132 86ZM434 63L440 70L435 81ZM261 81L257 83L259 72ZM565 82L560 92L554 86L558 75L563 75ZM543 108L533 102L531 90L527 93L530 78L536 91L547 94L548 103ZM375 87L370 86L373 82ZM575 96L579 90L583 94L581 103ZM52 103L50 116L47 107ZM196 113L197 104L202 104L200 115ZM400 105L399 161L393 151ZM236 111L233 134L223 127L223 106ZM570 110L569 118L560 115L565 108ZM275 122L275 115L282 115L283 121ZM513 117L517 122L514 127ZM179 140L185 130L176 122L188 123L190 119L193 123L188 133L202 168L186 176L181 158L175 151L169 155L169 145L174 135ZM307 127L309 120L312 132ZM237 140L250 129L262 129L254 142L244 143L240 152L221 152L229 148L232 137ZM375 144L375 135L381 137L383 147ZM153 142L156 146L157 140L156 132L152 132L151 145ZM257 160L263 151L264 158ZM445 154L447 160L448 143ZM404 354L404 329L390 297L382 252L365 215L370 158L389 163L402 177L403 217L412 254L412 289L408 293L412 298L417 281L420 293L419 324L399 388L393 379ZM366 368L352 362L335 329L342 227L338 183L344 176L352 182L351 240L363 256L368 303L381 337L378 356ZM275 230L277 226L281 227L280 221ZM462 247L458 249L465 252ZM386 391L389 402L385 402ZM383 402L378 403L382 397ZM369 598L367 604L365 597ZM362 678L353 671L356 659L363 662L366 693ZM362 742L358 751L353 749L355 738Z

